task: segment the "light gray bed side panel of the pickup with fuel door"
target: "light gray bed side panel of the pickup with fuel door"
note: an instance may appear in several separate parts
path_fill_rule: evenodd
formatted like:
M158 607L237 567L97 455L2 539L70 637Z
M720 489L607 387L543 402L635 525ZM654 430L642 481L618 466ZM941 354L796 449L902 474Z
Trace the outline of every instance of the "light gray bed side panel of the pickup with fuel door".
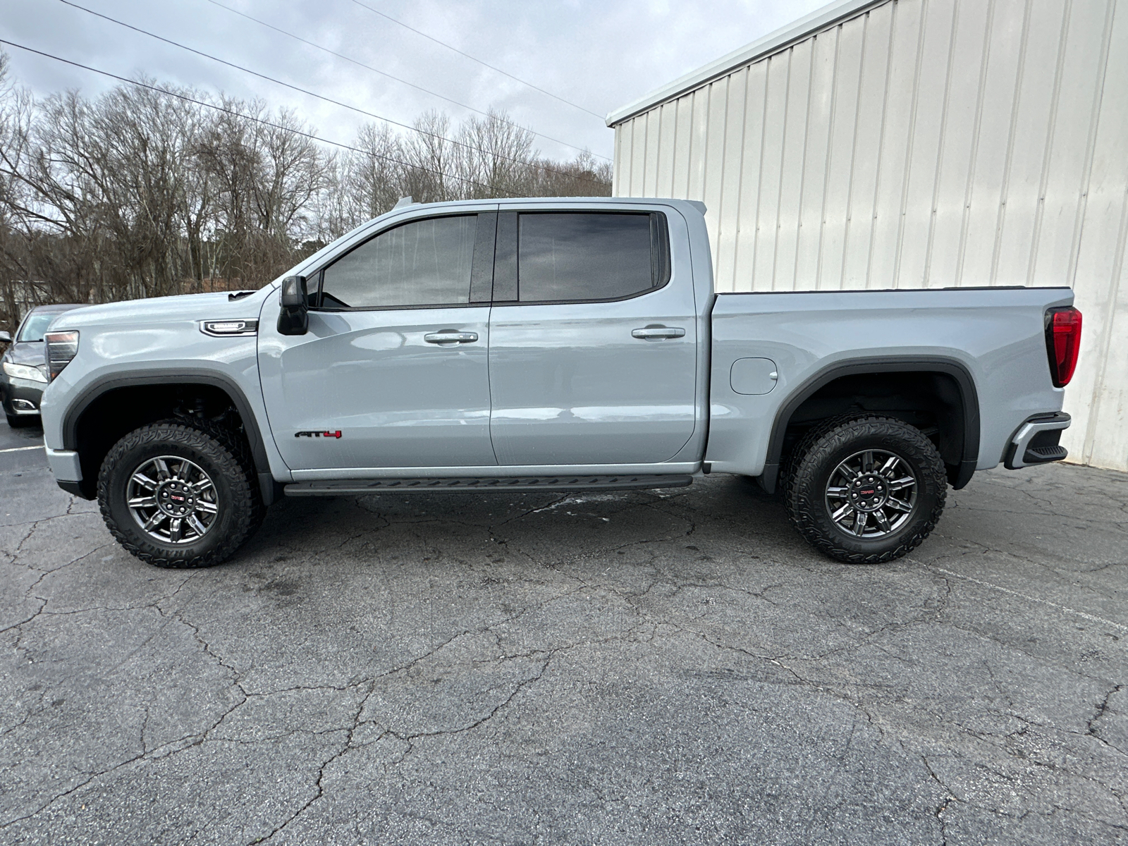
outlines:
M944 362L971 377L980 414L976 467L994 467L1024 420L1061 408L1043 321L1048 308L1072 303L1065 288L719 294L705 461L714 472L759 476L781 409L838 364L920 362L927 370ZM775 365L774 388L737 393L749 390L747 373L766 369L749 359Z

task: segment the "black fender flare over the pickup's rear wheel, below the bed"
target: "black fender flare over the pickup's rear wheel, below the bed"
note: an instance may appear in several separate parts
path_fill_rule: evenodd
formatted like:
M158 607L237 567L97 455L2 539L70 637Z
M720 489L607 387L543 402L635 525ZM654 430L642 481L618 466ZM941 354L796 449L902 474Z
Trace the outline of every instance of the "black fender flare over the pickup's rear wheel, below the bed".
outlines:
M772 437L768 440L768 451L764 464L760 484L768 493L775 493L779 478L779 464L783 457L784 435L792 415L819 388L829 385L844 376L864 376L865 373L897 373L919 370L933 373L944 373L952 377L960 391L963 404L963 455L952 487L959 491L971 481L979 462L979 395L976 390L971 372L958 359L944 356L905 356L875 359L846 359L828 364L810 376L787 398L776 412L772 424Z

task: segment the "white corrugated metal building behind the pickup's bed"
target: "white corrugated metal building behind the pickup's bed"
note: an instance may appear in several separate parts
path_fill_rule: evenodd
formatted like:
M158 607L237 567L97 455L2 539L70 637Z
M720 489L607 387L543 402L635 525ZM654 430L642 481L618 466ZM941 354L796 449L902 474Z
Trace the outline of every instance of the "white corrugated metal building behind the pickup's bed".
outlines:
M719 291L1072 285L1063 444L1128 470L1128 0L844 0L607 123Z

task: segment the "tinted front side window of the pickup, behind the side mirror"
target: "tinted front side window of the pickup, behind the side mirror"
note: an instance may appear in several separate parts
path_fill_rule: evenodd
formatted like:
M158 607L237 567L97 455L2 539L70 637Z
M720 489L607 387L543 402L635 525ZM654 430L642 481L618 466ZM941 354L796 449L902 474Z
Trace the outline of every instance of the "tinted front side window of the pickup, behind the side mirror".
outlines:
M416 220L364 241L325 268L321 308L469 302L476 220Z

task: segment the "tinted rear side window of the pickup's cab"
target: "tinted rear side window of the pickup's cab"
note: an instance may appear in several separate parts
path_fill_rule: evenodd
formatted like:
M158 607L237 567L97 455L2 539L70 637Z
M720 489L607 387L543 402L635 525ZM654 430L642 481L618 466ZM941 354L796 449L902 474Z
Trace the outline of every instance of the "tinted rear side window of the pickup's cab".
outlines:
M660 215L525 213L518 218L521 302L613 300L664 284Z

